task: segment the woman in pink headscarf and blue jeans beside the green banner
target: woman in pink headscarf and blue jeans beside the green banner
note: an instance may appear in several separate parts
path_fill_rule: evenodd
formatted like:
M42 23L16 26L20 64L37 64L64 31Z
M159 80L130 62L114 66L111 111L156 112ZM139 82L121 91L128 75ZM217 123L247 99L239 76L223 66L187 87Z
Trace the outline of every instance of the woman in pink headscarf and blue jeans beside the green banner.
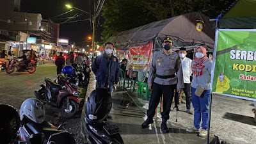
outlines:
M192 61L193 80L191 98L195 109L194 125L188 132L199 132L199 136L207 136L209 102L211 96L212 61L207 58L205 47L196 48L196 58ZM202 118L202 130L200 123Z

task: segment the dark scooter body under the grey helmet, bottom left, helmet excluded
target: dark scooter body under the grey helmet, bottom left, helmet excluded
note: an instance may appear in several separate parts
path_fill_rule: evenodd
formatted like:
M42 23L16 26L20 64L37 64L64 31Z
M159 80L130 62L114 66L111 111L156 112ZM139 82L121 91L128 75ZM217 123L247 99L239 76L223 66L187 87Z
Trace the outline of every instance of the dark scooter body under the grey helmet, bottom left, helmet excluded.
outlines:
M42 141L43 143L47 143L47 144L48 143L75 144L76 143L73 136L64 129L62 124L59 125L59 127L55 127L49 122L36 124L35 122L29 120L29 118L25 118L20 123L19 137L20 137L20 140L26 141L27 144L33 144L33 143L40 144L42 143Z

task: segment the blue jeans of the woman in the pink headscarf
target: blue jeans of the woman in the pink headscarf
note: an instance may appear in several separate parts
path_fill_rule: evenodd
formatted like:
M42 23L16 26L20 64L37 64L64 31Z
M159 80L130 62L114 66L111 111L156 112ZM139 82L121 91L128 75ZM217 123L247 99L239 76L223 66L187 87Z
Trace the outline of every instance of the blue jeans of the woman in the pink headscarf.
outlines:
M196 92L196 88L192 88L191 98L192 98L193 107L195 109L194 126L196 129L200 129L200 122L202 117L202 121L203 121L202 129L205 129L207 131L211 90L205 90L204 93L202 93L201 97L197 97L195 95L195 92Z

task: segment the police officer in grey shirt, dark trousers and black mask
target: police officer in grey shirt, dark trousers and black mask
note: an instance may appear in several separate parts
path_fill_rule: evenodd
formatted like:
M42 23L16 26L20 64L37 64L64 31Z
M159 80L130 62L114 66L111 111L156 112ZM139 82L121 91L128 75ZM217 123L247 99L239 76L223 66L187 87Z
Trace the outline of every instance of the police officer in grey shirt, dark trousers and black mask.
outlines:
M180 71L179 54L172 51L171 47L172 40L170 40L169 37L165 38L163 51L156 52L152 58L148 74L148 89L152 90L152 95L147 110L147 120L141 125L143 129L154 122L153 116L156 113L156 108L163 94L161 130L163 132L169 132L166 122L170 118L169 113L175 84L178 84L177 90L179 92L180 88L184 88L181 78L182 72ZM176 72L177 76L175 76ZM153 77L155 74L156 78L154 79Z

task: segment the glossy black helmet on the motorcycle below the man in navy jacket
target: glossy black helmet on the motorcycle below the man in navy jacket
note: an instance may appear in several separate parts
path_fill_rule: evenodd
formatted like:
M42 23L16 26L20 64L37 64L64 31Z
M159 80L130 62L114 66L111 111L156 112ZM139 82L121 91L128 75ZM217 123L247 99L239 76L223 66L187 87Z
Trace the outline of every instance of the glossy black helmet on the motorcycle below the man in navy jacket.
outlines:
M100 123L112 108L112 98L108 90L93 90L85 102L85 120L87 124Z

